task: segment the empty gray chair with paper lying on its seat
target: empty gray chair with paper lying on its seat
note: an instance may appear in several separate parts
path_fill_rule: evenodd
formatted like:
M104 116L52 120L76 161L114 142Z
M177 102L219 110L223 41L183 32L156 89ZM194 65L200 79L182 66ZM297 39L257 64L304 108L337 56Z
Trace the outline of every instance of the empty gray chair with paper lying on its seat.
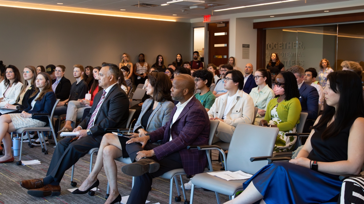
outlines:
M277 127L262 127L240 123L233 134L227 159L224 151L218 146L194 146L198 150L219 150L223 155L226 171L243 171L248 174L255 174L262 167L268 164L267 160L251 162L252 157L269 158L274 149L279 129ZM244 132L244 134L241 134ZM243 190L243 183L246 180L224 180L207 173L197 174L192 178L190 204L193 204L194 187L215 191L217 203L220 204L219 194L229 195L234 199L238 191Z

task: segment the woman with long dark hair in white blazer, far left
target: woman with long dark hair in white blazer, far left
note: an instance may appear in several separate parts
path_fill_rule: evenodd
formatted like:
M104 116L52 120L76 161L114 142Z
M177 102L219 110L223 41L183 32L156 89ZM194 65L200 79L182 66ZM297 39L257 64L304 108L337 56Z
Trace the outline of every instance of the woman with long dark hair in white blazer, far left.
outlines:
M21 87L23 87L23 83L21 83L19 69L14 65L7 66L5 70L4 81L0 83L0 107L4 107L7 103L17 103L21 92Z

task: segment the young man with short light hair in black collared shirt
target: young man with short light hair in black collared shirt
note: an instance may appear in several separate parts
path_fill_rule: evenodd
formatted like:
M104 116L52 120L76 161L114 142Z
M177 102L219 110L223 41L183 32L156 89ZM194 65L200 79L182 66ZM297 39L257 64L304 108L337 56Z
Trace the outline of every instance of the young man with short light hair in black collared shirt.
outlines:
M76 78L76 81L72 83L70 90L70 97L64 101L60 101L57 104L56 110L54 110L53 115L64 115L67 113L67 105L68 101L81 101L85 97L88 92L88 85L83 80L83 66L82 65L74 65L73 66L73 76ZM59 69L61 70L61 69ZM58 72L62 73L62 72ZM63 71L64 73L64 71ZM53 89L53 86L52 86Z

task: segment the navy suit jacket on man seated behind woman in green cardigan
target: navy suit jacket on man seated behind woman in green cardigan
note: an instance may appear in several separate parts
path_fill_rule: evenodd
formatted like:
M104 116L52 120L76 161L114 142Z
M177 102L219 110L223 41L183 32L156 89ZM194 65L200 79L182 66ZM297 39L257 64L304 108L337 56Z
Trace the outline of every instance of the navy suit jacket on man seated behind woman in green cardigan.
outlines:
M317 89L303 82L300 88L300 102L302 112L308 113L307 119L317 119L318 98L319 95Z

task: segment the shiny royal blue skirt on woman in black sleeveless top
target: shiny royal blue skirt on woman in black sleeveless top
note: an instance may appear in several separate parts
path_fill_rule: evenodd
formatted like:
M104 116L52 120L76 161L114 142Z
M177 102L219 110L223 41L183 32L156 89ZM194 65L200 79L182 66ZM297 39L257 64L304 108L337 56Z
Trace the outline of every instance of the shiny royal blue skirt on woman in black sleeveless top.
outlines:
M339 198L339 176L321 173L289 162L268 164L243 183L253 181L266 204L325 203Z

